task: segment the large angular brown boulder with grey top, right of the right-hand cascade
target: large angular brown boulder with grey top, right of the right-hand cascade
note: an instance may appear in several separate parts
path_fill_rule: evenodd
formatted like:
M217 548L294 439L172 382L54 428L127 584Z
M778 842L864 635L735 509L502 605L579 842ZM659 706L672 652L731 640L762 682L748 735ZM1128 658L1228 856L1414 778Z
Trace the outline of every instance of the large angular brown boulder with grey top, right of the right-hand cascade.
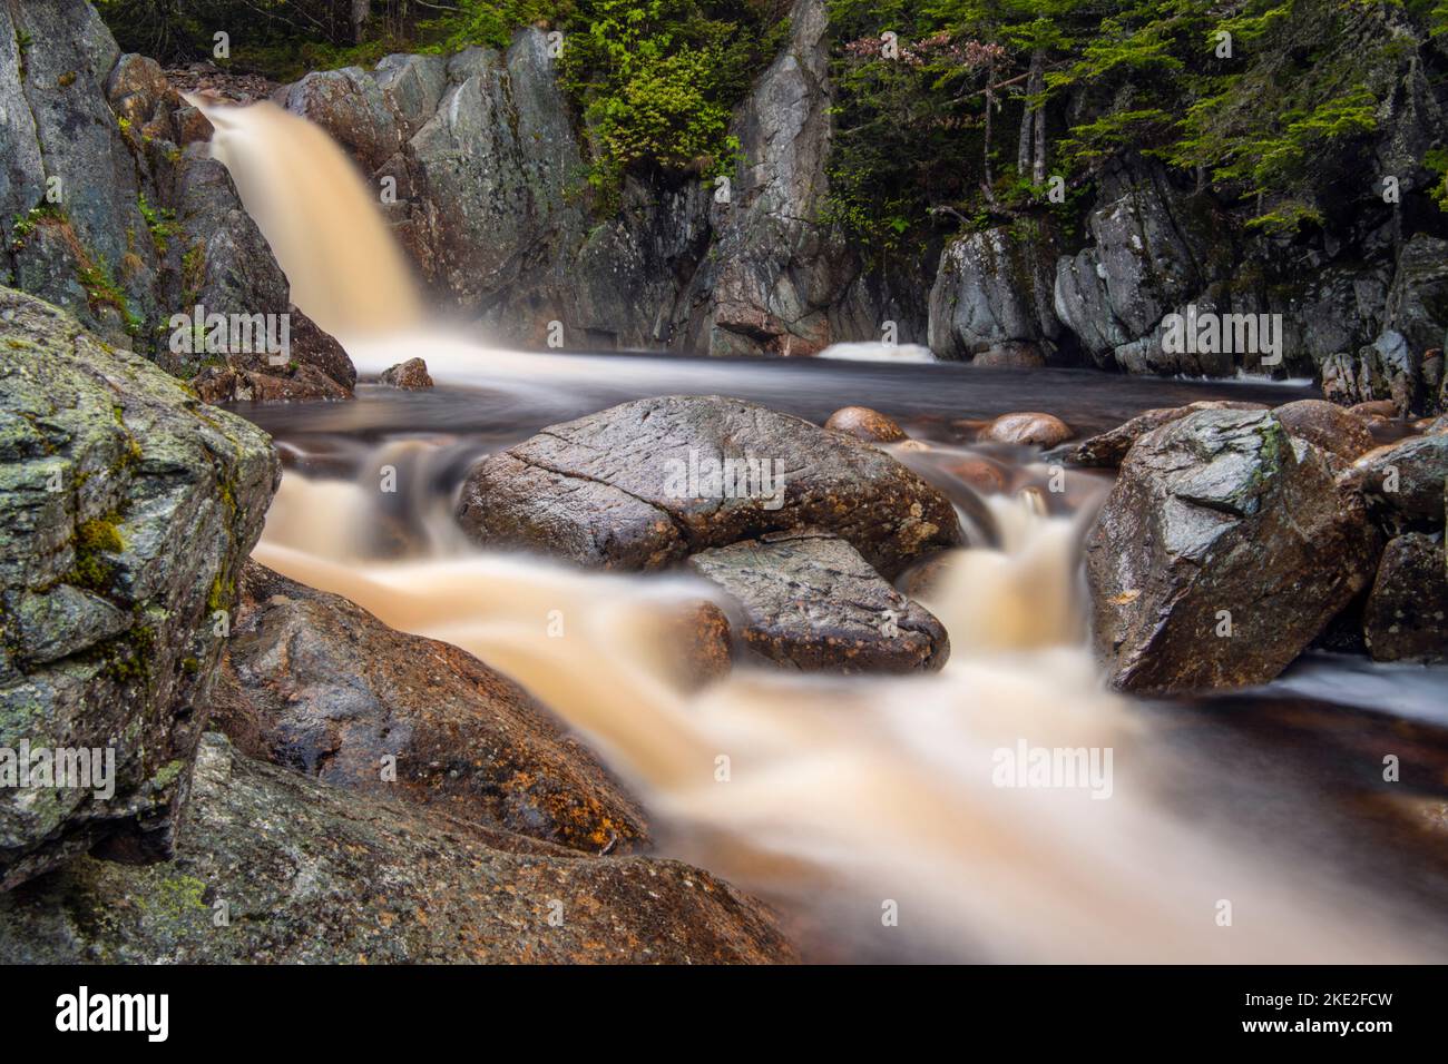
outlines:
M1377 546L1276 417L1197 411L1137 440L1087 536L1098 654L1132 692L1263 683L1367 586Z

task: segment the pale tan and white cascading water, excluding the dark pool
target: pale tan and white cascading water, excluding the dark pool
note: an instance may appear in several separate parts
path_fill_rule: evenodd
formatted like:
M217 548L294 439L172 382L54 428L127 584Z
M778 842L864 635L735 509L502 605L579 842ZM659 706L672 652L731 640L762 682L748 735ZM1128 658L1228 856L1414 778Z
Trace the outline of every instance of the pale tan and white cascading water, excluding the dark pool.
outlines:
M552 387L562 363L547 356L500 353L494 363L476 346L418 332L400 255L326 136L269 104L206 109L216 153L294 301L345 340L359 369L423 356L439 379ZM601 378L653 372L626 359L586 363ZM744 379L724 365L696 372L711 384ZM256 559L511 675L631 783L669 851L779 903L809 955L1445 955L1442 942L1405 931L1406 906L1364 903L1305 847L1274 858L1171 811L1164 795L1184 770L1134 705L1102 689L1085 646L1076 556L1099 482L1076 484L1074 512L1056 514L1041 505L1040 466L1014 468L1009 491L985 499L956 482L953 497L992 546L956 552L922 595L950 633L940 675L841 680L740 667L698 691L669 660L665 605L707 589L478 553L450 520L456 475L401 478L434 486L403 497L407 557L379 557L368 533L398 514L371 466L418 473L445 450L417 439L384 447L353 481L288 470ZM915 465L963 457L898 453ZM999 754L1022 744L1111 751L1112 772L1095 788L1002 786ZM882 919L892 906L898 924Z

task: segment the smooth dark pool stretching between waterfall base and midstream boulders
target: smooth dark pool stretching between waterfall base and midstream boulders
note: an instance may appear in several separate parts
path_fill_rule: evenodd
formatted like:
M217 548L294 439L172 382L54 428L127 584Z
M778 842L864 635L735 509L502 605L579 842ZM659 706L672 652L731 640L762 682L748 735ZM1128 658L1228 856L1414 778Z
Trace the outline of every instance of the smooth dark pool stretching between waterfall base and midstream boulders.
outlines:
M489 376L479 366L468 375L466 387L423 392L362 387L356 402L243 405L237 413L279 437L340 433L378 440L434 431L500 443L630 400L733 395L811 421L822 421L840 407L873 407L927 439L950 439L957 434L953 421L1016 410L1056 414L1085 436L1153 407L1197 400L1279 405L1318 395L1315 388L1286 384L1177 381L1092 369L977 369L948 362L559 353L510 358L531 360L537 373L531 379L517 372Z

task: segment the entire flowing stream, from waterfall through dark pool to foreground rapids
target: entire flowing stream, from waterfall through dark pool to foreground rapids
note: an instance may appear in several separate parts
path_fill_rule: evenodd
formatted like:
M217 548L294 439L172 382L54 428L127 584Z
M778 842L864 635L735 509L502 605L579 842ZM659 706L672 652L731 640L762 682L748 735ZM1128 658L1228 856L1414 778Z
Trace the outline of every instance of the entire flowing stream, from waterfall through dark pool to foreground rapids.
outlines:
M376 285L368 255L387 243L381 223L362 233L356 216L311 201L313 185L282 194L266 149L306 152L320 172L346 161L298 120L252 111L227 116L222 156L252 174L239 187L259 220L307 232L274 240L298 305L336 323L363 373L421 356L442 382L242 410L287 462L256 559L517 679L640 795L663 853L773 902L808 957L1448 957L1435 915L1448 899L1442 847L1378 779L1383 753L1400 753L1435 766L1412 796L1442 801L1444 670L1313 659L1229 698L1114 695L1086 646L1079 588L1080 537L1109 481L1072 472L1051 492L1037 452L963 442L969 421L1008 410L1093 430L1147 407L1286 401L1299 389L973 371L918 352L886 365L860 356L891 350L860 347L788 362L520 353L427 333L405 278L352 295ZM710 595L704 585L479 552L456 530L452 501L479 455L670 392L740 395L815 420L859 402L906 424L915 442L893 453L950 495L970 539L919 592L950 633L943 672L840 679L740 666L696 689L678 675L669 607ZM384 466L395 492L381 489ZM1325 696L1350 673L1376 693ZM1397 711L1399 695L1416 712ZM1002 786L1002 759L1022 744L1109 753L1109 773L1092 786Z

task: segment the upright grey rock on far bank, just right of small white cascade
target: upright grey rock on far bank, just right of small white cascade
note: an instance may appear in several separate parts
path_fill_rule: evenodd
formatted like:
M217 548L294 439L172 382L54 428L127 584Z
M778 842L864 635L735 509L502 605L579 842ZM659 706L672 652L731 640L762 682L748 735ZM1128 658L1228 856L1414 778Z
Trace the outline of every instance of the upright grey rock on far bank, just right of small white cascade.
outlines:
M1056 258L1038 224L957 237L930 291L930 349L941 359L1044 365L1063 332L1053 307Z

